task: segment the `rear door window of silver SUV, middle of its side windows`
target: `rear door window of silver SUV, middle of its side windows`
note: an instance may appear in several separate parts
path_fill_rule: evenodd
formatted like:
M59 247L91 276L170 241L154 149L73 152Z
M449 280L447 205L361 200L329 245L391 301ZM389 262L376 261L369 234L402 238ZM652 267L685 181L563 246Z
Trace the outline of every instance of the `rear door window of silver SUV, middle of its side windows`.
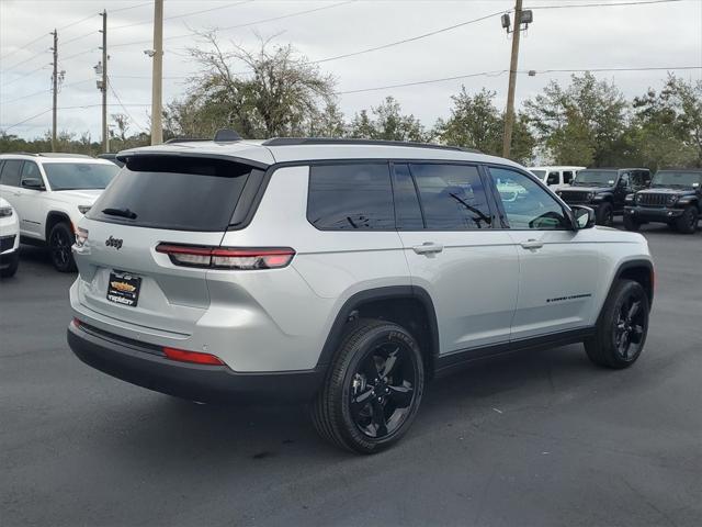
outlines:
M478 169L467 165L410 165L430 231L489 228L487 204Z

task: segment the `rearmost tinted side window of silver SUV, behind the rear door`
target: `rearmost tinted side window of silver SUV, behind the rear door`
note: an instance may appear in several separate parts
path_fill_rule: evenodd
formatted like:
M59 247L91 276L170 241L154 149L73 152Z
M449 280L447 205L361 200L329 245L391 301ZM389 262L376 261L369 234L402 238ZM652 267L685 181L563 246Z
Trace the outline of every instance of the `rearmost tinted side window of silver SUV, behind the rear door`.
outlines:
M321 231L394 229L387 162L310 167L307 221Z

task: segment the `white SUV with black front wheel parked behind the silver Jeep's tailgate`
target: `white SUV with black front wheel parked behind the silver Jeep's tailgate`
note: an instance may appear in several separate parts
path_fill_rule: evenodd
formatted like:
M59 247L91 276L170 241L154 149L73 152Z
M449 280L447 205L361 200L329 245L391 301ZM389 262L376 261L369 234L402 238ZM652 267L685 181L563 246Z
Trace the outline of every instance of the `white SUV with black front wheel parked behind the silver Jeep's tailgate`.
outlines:
M117 171L77 154L1 154L0 198L15 210L22 242L47 245L54 267L73 271L76 224Z

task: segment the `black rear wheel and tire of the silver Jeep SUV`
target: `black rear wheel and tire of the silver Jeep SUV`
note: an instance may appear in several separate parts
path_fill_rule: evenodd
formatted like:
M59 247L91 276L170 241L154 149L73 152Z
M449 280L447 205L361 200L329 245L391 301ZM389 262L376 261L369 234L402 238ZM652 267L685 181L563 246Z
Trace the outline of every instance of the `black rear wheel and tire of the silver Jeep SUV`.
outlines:
M375 453L408 430L421 402L424 368L415 338L384 321L353 323L312 406L315 428L335 445Z

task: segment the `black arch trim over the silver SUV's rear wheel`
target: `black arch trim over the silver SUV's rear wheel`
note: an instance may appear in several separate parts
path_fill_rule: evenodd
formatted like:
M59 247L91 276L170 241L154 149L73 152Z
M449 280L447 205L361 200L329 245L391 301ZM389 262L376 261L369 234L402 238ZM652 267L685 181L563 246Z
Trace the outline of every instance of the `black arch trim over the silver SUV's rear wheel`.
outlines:
M430 294L414 285L367 289L351 295L341 306L321 349L317 368L332 361L347 324L356 318L380 318L405 327L419 343L428 378L439 355L439 327Z

